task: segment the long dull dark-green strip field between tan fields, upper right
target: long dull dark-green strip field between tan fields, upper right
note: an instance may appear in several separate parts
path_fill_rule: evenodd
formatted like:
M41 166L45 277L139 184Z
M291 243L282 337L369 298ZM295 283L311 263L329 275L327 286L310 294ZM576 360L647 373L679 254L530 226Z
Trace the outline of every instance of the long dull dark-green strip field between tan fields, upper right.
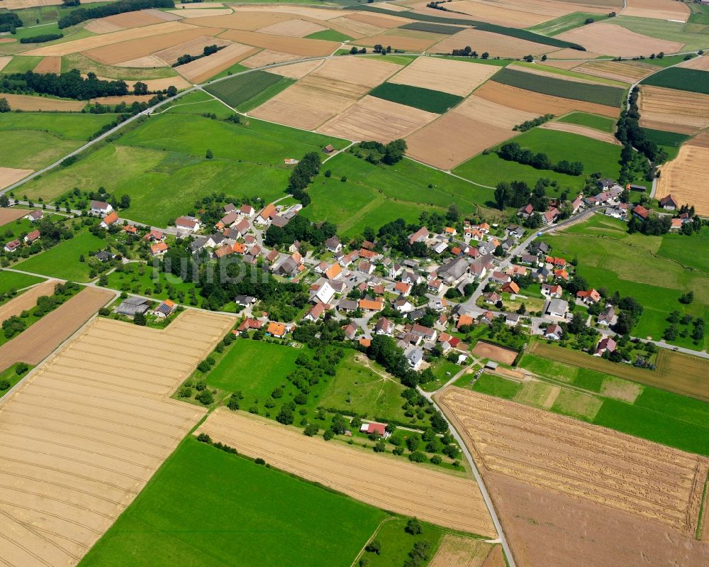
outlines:
M556 79L507 68L498 71L491 80L532 92L551 94L554 97L595 102L608 106L620 106L625 94L623 89L610 85L566 81L562 78Z

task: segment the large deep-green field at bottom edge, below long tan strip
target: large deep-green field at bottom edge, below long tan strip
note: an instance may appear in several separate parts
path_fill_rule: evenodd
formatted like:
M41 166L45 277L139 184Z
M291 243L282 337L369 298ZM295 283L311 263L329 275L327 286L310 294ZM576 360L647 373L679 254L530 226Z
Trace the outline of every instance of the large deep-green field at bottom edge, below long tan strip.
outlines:
M350 567L386 512L186 439L82 567Z

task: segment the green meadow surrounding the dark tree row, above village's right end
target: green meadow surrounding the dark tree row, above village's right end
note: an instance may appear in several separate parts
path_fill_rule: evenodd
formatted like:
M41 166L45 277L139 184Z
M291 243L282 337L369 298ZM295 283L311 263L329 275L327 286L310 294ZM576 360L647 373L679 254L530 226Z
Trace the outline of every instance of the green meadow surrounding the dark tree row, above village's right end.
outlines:
M584 164L584 173L574 176L552 170L536 170L531 165L503 160L494 151L488 155L476 155L456 167L453 172L490 187L495 187L501 181L524 181L527 185L534 186L537 180L548 178L556 180L562 189L582 189L586 175L601 172L604 177L615 179L620 171L618 145L542 128L533 128L514 138L514 141L532 152L546 153L553 163L560 160L580 161Z

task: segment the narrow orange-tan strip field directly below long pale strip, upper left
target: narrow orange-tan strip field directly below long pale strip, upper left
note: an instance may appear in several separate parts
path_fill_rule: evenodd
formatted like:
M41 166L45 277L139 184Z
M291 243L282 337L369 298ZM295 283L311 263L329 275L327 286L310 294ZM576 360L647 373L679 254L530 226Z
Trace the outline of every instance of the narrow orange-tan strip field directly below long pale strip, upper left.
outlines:
M155 35L151 38L138 38L86 50L83 55L106 65L118 65L118 63L128 65L128 62L132 60L147 57L157 51L172 48L174 45L201 38L205 35L217 35L221 31L220 28L196 28L191 26L182 31Z

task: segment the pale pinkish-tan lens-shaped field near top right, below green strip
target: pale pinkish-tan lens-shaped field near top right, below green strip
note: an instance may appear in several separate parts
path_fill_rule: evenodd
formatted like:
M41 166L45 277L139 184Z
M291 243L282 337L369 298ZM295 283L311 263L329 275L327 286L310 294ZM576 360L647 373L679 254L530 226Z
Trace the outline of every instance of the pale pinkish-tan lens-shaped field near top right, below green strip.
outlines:
M635 57L650 53L676 53L683 44L649 38L634 31L627 30L614 23L596 22L581 26L571 31L565 31L556 36L559 39L579 43L590 51L613 55L613 57Z

